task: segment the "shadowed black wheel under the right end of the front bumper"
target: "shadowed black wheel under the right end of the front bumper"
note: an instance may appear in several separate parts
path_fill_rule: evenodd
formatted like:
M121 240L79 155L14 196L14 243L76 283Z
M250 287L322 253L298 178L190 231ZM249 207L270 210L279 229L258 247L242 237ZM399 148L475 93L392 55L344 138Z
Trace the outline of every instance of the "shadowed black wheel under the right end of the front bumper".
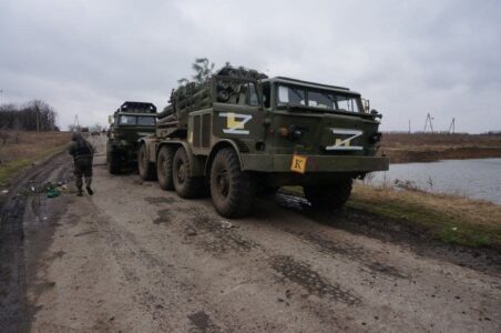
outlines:
M305 186L306 199L315 208L340 209L351 194L352 180L344 179L326 186Z

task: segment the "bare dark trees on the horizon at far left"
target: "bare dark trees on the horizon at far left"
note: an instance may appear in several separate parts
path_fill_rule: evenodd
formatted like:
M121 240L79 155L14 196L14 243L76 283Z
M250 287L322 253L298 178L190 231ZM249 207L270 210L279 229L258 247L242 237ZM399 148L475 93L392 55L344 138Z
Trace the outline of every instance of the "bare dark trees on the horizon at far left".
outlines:
M59 131L58 112L42 100L0 105L0 130Z

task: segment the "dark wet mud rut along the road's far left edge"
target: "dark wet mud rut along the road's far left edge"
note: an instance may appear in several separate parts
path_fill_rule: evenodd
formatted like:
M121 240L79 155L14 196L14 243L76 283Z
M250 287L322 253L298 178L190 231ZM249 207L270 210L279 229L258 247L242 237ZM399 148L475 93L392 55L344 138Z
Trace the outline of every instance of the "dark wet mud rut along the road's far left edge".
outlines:
M64 173L68 158L64 152L43 160L40 164L18 175L16 185L3 202L0 212L0 331L27 330L32 310L27 304L27 266L24 254L25 230L23 219L27 211L44 223L47 213L44 196L32 193L32 183L41 183L54 173L54 168ZM44 194L44 193L43 193Z

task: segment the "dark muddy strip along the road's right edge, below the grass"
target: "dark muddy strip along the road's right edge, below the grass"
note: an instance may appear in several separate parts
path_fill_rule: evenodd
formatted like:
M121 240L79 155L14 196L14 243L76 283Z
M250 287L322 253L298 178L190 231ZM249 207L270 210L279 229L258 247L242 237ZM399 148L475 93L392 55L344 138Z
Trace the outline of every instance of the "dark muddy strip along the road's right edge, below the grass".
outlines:
M308 201L303 196L293 195L286 192L279 192L275 195L275 203L288 211L296 212L315 223L344 230L346 232L364 235L381 242L400 244L411 252L422 258L447 261L452 264L464 266L493 276L501 276L501 255L495 249L471 249L454 244L443 244L439 241L429 240L426 231L418 229L408 221L393 221L391 219L381 219L377 215L355 210L340 210L336 218L325 212L311 210ZM305 235L304 238L310 238ZM319 244L324 241L316 240L314 235L311 241ZM330 246L330 245L329 245ZM328 248L329 248L328 246ZM336 249L333 249L336 250ZM337 249L342 253L344 249ZM354 249L356 250L356 249ZM354 253L354 252L349 252ZM364 255L362 255L364 256ZM357 260L357 258L354 258ZM402 272L395 272L391 268L386 268L379 263L371 264L366 259L362 260L374 271L382 271L386 275L396 278ZM402 273L402 279L411 278Z

